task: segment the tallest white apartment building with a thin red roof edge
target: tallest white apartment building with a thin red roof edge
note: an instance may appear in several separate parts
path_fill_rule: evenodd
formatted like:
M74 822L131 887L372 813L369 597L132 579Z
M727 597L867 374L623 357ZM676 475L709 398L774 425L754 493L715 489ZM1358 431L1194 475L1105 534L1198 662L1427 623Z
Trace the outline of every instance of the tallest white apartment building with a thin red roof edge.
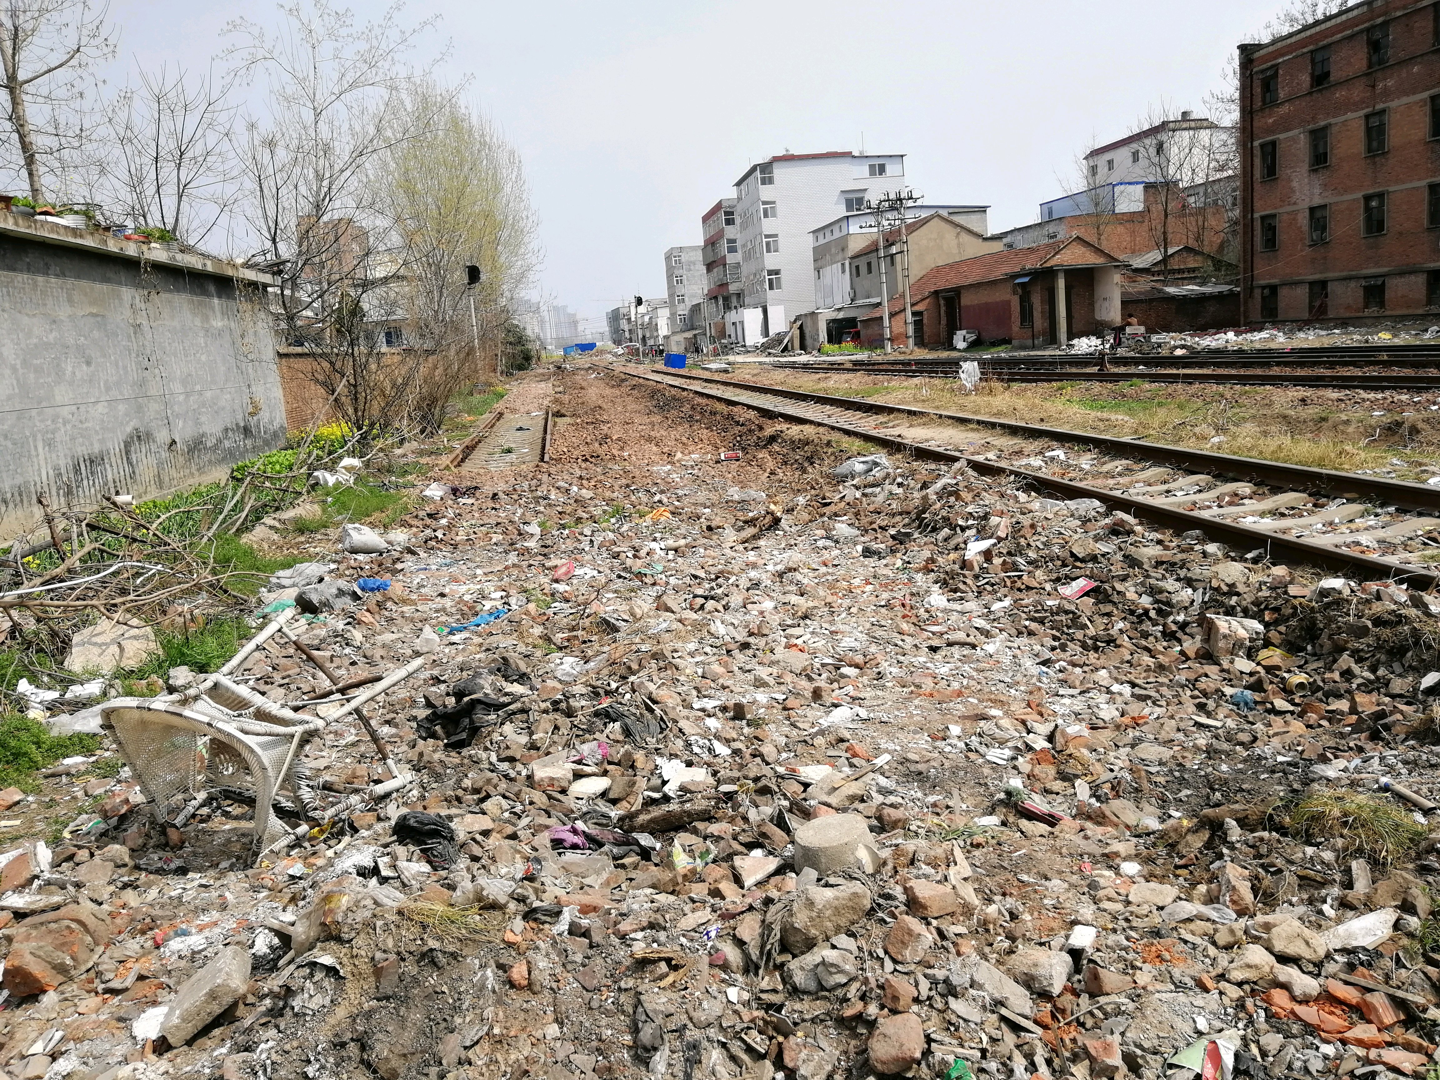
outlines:
M736 181L740 289L746 315L726 315L732 337L753 344L815 308L812 230L906 187L904 154L778 154Z

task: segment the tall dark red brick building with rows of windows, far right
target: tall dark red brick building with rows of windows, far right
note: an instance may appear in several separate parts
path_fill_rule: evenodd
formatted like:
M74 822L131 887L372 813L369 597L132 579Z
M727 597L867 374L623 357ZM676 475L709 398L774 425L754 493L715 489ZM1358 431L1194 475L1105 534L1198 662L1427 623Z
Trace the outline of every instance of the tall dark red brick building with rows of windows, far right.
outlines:
M1440 3L1240 46L1241 317L1440 311Z

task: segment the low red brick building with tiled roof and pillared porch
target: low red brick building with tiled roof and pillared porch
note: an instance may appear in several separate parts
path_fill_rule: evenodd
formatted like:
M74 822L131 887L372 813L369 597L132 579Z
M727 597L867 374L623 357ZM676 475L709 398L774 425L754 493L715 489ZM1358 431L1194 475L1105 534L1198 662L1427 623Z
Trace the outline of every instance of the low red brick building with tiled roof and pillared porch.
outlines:
M1120 320L1123 266L1080 236L935 266L910 287L914 344L950 348L958 330L1021 348L1100 333ZM1063 310L1058 297L1064 297ZM880 317L878 307L861 317L861 344L883 343ZM909 340L904 297L890 301L890 333L897 346Z

